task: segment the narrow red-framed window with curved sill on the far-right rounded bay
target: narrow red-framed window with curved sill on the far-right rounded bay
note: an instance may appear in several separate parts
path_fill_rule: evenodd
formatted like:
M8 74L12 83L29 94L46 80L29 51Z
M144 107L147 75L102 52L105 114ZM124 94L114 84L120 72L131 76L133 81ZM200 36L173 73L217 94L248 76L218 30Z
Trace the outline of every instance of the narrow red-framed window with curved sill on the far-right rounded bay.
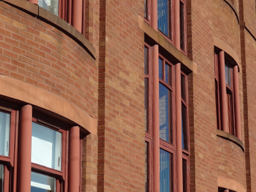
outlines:
M224 51L214 53L217 128L241 140L238 66Z

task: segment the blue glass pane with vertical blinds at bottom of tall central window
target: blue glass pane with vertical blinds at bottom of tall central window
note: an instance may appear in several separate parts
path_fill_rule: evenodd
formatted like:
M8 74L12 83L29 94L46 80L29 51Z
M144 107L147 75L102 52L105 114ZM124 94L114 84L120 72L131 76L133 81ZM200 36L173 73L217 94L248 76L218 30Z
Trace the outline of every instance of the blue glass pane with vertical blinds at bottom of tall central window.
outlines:
M173 191L172 154L160 148L160 192Z

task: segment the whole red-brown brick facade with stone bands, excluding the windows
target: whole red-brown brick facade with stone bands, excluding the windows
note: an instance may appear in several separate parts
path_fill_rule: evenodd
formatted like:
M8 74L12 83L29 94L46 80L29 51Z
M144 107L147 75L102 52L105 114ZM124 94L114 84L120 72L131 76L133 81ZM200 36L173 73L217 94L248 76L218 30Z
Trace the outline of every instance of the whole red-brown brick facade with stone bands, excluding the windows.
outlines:
M187 0L187 55L143 19L143 1L84 1L83 35L20 1L0 2L0 103L79 125L81 191L145 191L145 42L188 75L188 192L256 191L255 1ZM239 68L241 140L217 130L216 50Z

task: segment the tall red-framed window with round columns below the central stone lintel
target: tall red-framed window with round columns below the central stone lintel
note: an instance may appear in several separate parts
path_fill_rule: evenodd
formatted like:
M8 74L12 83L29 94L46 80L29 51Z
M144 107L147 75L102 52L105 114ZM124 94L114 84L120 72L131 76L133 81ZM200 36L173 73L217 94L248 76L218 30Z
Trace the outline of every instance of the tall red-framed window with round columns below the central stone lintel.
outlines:
M180 182L187 192L188 77L180 72L180 63L173 65L155 51L145 44L145 191L179 191ZM154 70L158 74L154 74ZM177 174L182 180L177 179ZM155 181L157 178L159 182Z

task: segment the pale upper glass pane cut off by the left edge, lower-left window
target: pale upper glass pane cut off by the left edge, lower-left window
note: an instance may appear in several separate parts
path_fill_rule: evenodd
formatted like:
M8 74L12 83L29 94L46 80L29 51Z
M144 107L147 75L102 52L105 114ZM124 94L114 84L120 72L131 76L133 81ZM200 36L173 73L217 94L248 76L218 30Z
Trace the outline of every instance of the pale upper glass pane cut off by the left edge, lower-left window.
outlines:
M9 156L11 115L0 111L0 155Z

